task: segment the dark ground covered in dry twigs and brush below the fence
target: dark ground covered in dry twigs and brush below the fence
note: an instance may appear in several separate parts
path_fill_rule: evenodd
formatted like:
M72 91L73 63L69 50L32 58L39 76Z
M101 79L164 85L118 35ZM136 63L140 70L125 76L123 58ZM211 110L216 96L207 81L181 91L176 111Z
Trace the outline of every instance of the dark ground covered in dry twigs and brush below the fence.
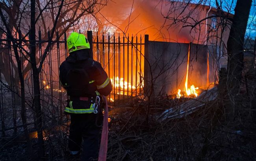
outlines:
M255 79L255 73L244 72L237 97L241 104L237 106L236 117L232 120L226 118L225 110L221 109L221 99L209 102L184 118L168 119L162 123L155 119L158 113L187 99L162 98L150 104L134 99L125 103L116 102L115 106L111 104L107 160L256 160ZM43 160L80 160L80 156L69 156L67 126L54 119L45 122L47 131ZM0 137L1 161L38 160L29 156L22 128L18 129L16 137L11 135ZM32 154L36 157L37 139L33 132L31 136Z

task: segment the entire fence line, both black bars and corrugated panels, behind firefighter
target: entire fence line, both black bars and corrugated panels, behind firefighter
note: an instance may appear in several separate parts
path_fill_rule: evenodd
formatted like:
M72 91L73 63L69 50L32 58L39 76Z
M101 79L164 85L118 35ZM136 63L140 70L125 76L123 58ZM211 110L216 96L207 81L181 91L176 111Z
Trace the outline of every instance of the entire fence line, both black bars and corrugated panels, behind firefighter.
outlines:
M16 38L17 42L29 51L28 40L20 37ZM41 31L39 31L36 44L38 60L42 59L49 37L48 32L42 38ZM209 46L207 48L197 44L154 42L148 40L148 35L134 37L108 33L93 36L92 31L87 31L87 38L93 47L91 57L102 64L111 79L113 91L108 96L109 102L130 101L136 97L145 97L145 93L149 94L147 93L149 88L153 88L153 96L175 95L178 89L184 88L188 51L191 53L189 62L192 64L189 70L190 83L203 86L206 82L216 80L214 73L216 54ZM66 33L56 32L55 40L51 42L52 45L40 73L43 117L50 118L43 119L47 121L47 124L61 120L64 116L63 109L66 105L67 93L59 84L59 66L68 56L66 42ZM0 66L0 125L2 135L5 135L11 132L17 133L18 129L22 128L19 104L20 86L12 44L3 38L0 39L0 45L2 63ZM33 126L35 112L32 99L32 70L27 60L28 57L24 55L22 49L19 52L26 83L27 123ZM208 53L210 53L209 59L207 59ZM207 69L207 66L210 68ZM199 76L198 73L200 73ZM207 80L207 77L211 79Z

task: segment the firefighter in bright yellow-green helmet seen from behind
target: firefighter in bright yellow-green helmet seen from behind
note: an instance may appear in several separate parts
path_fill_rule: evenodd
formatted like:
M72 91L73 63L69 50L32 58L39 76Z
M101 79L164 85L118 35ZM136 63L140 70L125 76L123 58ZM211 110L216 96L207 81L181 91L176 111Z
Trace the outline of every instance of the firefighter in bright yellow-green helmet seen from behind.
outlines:
M83 34L71 33L67 48L69 57L59 67L59 80L69 96L69 152L78 155L83 139L82 160L91 161L98 158L101 96L109 95L112 85L101 64L89 58L90 44Z

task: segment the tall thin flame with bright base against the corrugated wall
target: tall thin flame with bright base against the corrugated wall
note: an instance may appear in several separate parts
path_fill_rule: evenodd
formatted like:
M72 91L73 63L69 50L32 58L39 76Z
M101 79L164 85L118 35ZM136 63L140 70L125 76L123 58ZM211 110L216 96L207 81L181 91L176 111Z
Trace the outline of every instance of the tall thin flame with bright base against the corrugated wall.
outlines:
M189 45L189 49L188 49L188 56L187 56L187 74L186 74L186 81L185 81L185 95L186 96L195 96L197 97L198 96L198 87L195 87L194 84L192 84L190 86L190 88L188 88L187 86L187 81L188 81L188 73L189 73L189 55L190 55L190 45ZM177 92L177 95L176 97L179 99L180 97L182 97L182 94L181 94L181 90L178 89L178 92Z

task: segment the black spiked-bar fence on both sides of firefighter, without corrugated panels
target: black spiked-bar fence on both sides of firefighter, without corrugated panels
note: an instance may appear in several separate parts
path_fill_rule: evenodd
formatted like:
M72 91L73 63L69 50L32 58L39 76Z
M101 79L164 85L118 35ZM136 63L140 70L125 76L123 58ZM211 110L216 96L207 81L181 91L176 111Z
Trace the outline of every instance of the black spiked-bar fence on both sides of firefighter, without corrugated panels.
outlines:
M43 38L42 38L43 36ZM27 123L33 126L35 112L33 109L33 81L30 62L24 50L29 51L29 41L21 38L19 31L17 43L23 49L19 50L22 58L22 71L25 78L26 115ZM38 32L36 43L37 59L42 59L42 54L48 44L50 32L42 35ZM88 40L93 46L91 57L102 64L104 70L111 78L113 91L108 97L109 102L130 100L140 97L143 93L143 52L142 37L129 37L129 35L106 34L93 37L87 31ZM67 56L66 33L59 35L56 32L55 40L51 42L48 55L43 63L40 73L41 106L45 118L51 121L61 119L66 105L67 93L59 84L59 66ZM2 135L17 133L22 128L20 119L19 77L17 62L13 53L11 41L7 38L0 39L0 117ZM2 67L2 68L1 68ZM46 119L45 119L46 120ZM48 124L50 122L47 122Z

